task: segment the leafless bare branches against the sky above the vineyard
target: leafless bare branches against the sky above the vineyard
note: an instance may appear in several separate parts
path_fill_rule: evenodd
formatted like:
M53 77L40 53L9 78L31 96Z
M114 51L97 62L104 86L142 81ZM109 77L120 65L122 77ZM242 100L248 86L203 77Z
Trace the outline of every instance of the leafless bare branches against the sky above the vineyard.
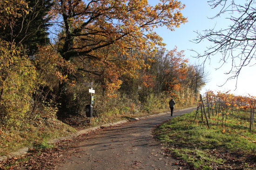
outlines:
M203 54L197 57L204 57L204 63L218 53L222 54L221 62L231 61L231 69L225 74L229 74L227 79L236 79L245 66L256 64L256 1L255 0L210 0L212 8L221 8L220 12L211 19L228 13L226 18L232 21L226 29L216 31L215 29L205 30L204 33L196 32L195 43L208 40L213 43L207 47Z

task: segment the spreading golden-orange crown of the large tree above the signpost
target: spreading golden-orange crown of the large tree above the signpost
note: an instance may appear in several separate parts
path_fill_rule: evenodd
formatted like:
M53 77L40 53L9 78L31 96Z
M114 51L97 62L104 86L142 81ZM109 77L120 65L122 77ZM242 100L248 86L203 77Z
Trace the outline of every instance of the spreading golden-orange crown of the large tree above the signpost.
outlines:
M174 30L186 22L180 13L183 7L175 0L161 0L156 6L147 0L57 0L52 12L61 21L55 22L61 28L57 50L66 61L78 63L79 72L96 76L107 95L115 96L121 76L135 75L135 69L144 65L145 54L163 45L154 28Z

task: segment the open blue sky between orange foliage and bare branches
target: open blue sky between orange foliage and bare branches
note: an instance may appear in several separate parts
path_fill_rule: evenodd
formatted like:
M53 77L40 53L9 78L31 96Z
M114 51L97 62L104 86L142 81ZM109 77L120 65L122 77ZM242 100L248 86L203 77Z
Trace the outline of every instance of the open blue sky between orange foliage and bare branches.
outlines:
M152 5L158 2L158 0L148 0ZM197 60L192 56L196 56L196 53L190 50L195 50L202 52L206 50L206 47L209 47L210 44L207 41L204 41L200 44L195 44L192 41L196 38L196 33L194 31L202 32L211 28L227 28L229 25L229 20L225 17L217 19L208 19L208 17L215 16L218 13L217 9L211 9L207 3L207 0L181 0L183 4L186 5L185 9L182 10L182 14L188 18L188 23L181 25L179 28L176 28L175 31L169 31L166 28L158 28L156 32L163 38L166 48L172 50L177 46L178 50L185 50L184 54L186 58L189 58L191 64L193 63L202 63L202 60ZM218 87L226 82L230 75L225 75L224 73L228 72L231 68L230 63L224 64L220 69L221 64L219 63L220 56L216 55L211 60L207 60L205 65L206 71L209 72L209 83L202 89L202 93L206 90L212 91L222 91L226 92L231 90L230 93L236 95L253 95L256 96L256 65L252 67L246 67L240 73L237 81L230 80L222 87ZM236 89L236 90L235 90Z

